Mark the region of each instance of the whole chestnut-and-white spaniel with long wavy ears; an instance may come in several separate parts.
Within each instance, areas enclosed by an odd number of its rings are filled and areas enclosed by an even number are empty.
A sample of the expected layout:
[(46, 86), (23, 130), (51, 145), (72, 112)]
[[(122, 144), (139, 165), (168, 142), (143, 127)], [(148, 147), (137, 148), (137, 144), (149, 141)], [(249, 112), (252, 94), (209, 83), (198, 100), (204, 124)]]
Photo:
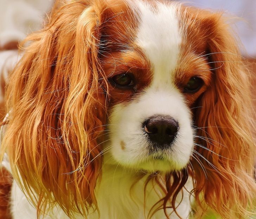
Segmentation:
[(59, 0), (19, 59), (1, 140), (13, 219), (255, 215), (250, 77), (222, 13)]

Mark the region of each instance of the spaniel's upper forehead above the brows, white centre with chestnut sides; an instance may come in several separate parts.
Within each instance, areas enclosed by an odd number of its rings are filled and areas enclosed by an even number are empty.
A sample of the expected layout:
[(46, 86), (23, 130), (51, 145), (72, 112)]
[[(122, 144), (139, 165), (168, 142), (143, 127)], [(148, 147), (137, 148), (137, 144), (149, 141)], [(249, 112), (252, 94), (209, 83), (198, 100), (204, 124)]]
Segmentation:
[(109, 1), (101, 21), (100, 52), (142, 50), (154, 67), (167, 70), (187, 52), (204, 52), (212, 26), (206, 11), (172, 1)]

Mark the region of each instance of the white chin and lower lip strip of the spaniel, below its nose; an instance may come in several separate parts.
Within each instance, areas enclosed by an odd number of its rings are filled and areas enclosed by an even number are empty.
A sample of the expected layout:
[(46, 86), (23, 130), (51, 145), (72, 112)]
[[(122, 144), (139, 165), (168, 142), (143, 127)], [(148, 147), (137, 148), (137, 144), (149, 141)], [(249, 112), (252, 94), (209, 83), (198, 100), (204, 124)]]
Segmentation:
[[(114, 147), (114, 146), (115, 147)], [(184, 169), (191, 158), (191, 153), (181, 153), (177, 147), (172, 149), (144, 150), (143, 153), (131, 150), (120, 150), (119, 145), (111, 144), (112, 150), (104, 153), (104, 163), (118, 166), (134, 172), (173, 172)], [(105, 147), (108, 148), (108, 145)]]

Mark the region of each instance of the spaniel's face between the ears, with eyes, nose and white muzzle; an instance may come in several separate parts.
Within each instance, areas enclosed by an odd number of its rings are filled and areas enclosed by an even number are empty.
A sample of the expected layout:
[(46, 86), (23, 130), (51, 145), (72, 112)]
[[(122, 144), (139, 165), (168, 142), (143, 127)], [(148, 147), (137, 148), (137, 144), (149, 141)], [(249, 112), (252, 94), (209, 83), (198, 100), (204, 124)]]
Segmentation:
[[(204, 39), (193, 41), (188, 34), (199, 38), (205, 33), (187, 27), (184, 10), (175, 3), (153, 7), (140, 2), (133, 9), (132, 42), (123, 42), (126, 49), (113, 44), (114, 56), (102, 58), (111, 97), (105, 148), (128, 167), (180, 170), (195, 146), (191, 108), (212, 72)], [(122, 19), (115, 18), (121, 25)]]

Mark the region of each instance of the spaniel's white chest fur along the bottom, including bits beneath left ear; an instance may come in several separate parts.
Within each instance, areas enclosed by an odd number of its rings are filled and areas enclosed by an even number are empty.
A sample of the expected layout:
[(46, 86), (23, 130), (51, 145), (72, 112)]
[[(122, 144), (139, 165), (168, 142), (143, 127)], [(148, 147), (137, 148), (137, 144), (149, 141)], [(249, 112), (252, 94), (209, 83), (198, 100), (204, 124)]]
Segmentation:
[[(133, 174), (127, 173), (120, 169), (104, 169), (102, 180), (96, 188), (96, 196), (98, 201), (98, 212), (94, 211), (88, 215), (88, 219), (146, 219), (154, 213), (153, 206), (160, 200), (161, 192), (158, 186), (149, 182), (145, 187), (147, 177), (135, 177)], [(187, 186), (190, 186), (189, 183)], [(187, 188), (189, 189), (189, 188)], [(181, 199), (181, 193), (177, 198)], [(152, 208), (153, 207), (153, 208)], [(178, 219), (177, 215), (172, 213), (172, 209), (168, 209), (171, 219)], [(188, 193), (184, 191), (184, 197), (179, 207), (178, 213), (182, 218), (187, 218), (190, 214), (191, 207), (188, 200)], [(14, 182), (12, 186), (12, 214), (13, 219), (35, 219), (36, 209), (32, 207), (23, 192)], [(100, 217), (99, 217), (100, 216)], [(55, 207), (50, 215), (45, 219), (69, 219), (60, 208)], [(76, 219), (83, 219), (81, 215), (77, 215)], [(156, 211), (152, 219), (165, 219), (164, 211)]]

